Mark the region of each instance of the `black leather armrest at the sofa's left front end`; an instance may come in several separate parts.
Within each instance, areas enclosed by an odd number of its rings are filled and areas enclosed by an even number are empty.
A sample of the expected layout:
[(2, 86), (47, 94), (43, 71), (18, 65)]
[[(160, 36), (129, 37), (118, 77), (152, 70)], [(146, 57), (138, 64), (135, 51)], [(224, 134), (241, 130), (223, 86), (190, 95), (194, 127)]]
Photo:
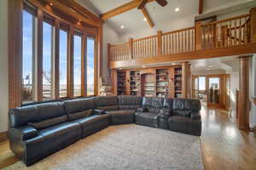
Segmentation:
[(38, 130), (32, 126), (23, 126), (23, 127), (11, 127), (9, 129), (9, 137), (14, 139), (26, 140), (32, 139), (38, 136)]

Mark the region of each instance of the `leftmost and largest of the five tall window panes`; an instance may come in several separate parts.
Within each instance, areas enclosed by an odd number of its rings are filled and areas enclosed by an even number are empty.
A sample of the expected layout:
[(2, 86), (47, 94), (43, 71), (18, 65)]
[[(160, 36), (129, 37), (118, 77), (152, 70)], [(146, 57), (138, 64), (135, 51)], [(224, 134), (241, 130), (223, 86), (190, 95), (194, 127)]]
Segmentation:
[(22, 102), (34, 100), (33, 39), (34, 16), (23, 10), (23, 51), (22, 51)]

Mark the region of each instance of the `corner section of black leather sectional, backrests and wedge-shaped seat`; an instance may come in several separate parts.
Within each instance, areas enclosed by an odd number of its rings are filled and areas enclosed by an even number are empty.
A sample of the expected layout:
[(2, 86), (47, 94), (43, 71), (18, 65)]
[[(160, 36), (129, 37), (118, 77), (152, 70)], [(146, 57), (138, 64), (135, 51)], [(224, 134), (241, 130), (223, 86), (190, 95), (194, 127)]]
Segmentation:
[(134, 114), (140, 107), (140, 96), (98, 96), (96, 108), (110, 116), (110, 124), (134, 123)]

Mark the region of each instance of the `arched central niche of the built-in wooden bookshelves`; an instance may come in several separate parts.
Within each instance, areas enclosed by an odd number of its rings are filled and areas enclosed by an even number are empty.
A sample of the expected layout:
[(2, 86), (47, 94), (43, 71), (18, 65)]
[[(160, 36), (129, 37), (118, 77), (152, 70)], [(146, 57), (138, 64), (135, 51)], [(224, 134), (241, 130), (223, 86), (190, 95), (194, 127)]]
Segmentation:
[(146, 97), (155, 95), (154, 74), (148, 73), (142, 75), (142, 95)]

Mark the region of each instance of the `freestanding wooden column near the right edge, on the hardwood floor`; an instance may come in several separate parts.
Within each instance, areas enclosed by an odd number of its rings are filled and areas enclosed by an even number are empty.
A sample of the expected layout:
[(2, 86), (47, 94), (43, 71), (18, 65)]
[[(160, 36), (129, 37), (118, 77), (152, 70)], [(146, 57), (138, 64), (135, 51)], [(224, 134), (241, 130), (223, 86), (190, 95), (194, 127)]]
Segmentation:
[(249, 56), (239, 57), (240, 79), (239, 79), (239, 105), (238, 105), (238, 127), (249, 129)]

